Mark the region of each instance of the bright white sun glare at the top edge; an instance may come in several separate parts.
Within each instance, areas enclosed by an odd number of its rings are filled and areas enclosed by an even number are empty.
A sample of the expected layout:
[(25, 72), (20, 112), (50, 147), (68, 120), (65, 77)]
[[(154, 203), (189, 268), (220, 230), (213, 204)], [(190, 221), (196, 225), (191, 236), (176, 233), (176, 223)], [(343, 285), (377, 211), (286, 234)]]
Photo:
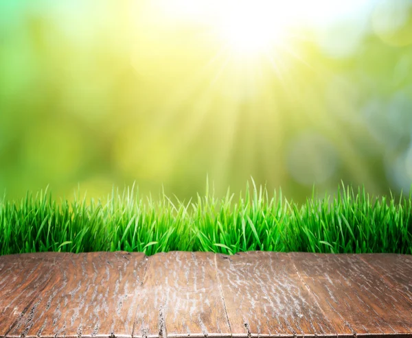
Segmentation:
[(209, 25), (222, 47), (237, 56), (256, 56), (280, 43), (297, 12), (279, 0), (158, 1), (179, 21)]

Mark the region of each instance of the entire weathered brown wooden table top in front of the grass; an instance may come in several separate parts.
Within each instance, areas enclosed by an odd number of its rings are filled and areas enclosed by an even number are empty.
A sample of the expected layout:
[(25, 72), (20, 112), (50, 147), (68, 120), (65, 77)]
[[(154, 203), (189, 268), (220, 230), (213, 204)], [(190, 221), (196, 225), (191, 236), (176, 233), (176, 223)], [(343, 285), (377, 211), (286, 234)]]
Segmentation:
[(0, 337), (412, 337), (412, 256), (0, 256)]

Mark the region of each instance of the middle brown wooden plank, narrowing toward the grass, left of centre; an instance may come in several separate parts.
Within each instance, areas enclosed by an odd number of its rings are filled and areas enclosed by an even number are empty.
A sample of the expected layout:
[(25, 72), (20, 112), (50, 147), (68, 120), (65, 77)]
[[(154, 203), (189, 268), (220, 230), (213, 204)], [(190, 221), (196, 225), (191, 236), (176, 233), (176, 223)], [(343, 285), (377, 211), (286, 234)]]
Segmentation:
[(210, 252), (151, 256), (134, 337), (229, 337), (217, 285), (214, 254)]

